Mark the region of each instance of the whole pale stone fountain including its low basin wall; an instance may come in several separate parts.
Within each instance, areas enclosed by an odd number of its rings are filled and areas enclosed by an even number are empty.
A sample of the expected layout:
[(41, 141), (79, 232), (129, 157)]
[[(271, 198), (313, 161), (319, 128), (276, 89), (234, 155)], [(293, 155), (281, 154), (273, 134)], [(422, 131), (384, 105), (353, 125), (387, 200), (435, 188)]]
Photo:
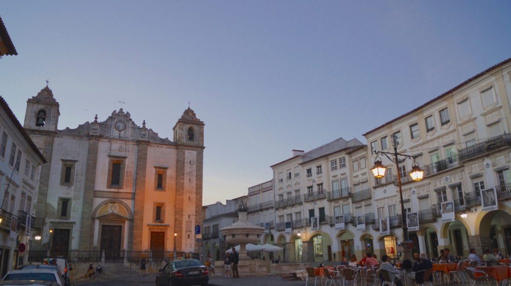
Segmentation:
[[(248, 243), (257, 243), (263, 234), (265, 228), (254, 225), (247, 221), (247, 207), (242, 203), (238, 207), (238, 221), (222, 227), (223, 239), (230, 244), (240, 245), (238, 251), (240, 263), (238, 264), (238, 272), (240, 276), (266, 276), (270, 269), (269, 260), (251, 259), (247, 255), (246, 245)], [(216, 275), (223, 273), (223, 261), (215, 263)]]

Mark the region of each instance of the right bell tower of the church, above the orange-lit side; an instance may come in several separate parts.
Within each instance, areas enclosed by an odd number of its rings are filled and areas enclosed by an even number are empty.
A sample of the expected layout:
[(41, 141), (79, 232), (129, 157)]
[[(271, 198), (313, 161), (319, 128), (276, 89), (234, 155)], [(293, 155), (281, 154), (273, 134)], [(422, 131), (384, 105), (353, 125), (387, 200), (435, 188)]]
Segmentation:
[(204, 122), (200, 121), (195, 112), (188, 108), (183, 112), (172, 128), (174, 142), (179, 144), (204, 146)]

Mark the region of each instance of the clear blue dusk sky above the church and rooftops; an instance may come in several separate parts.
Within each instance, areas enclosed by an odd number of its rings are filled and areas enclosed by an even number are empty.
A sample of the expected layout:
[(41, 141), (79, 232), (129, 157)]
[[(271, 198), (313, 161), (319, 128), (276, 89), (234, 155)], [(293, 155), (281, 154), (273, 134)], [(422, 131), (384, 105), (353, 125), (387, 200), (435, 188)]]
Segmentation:
[(203, 204), (269, 167), (357, 138), (511, 57), (511, 1), (0, 1), (18, 52), (0, 95), (18, 120), (49, 79), (59, 129), (119, 101), (172, 139), (205, 123)]

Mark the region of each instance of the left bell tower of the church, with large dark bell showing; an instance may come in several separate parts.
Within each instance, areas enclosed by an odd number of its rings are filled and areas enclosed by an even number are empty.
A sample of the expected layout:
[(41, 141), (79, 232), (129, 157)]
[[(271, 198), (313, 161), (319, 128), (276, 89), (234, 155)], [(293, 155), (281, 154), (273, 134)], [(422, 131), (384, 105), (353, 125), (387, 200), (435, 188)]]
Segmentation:
[(47, 85), (36, 96), (27, 100), (23, 127), (34, 131), (56, 132), (59, 116), (59, 103)]

